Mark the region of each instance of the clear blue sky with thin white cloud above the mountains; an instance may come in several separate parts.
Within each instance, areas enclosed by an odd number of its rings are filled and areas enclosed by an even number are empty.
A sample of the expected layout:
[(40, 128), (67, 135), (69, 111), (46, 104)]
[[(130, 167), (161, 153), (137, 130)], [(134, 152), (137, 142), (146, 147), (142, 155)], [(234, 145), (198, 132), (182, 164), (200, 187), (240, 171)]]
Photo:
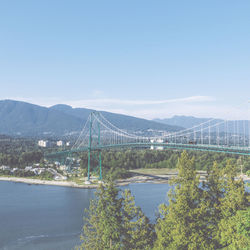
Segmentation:
[(0, 99), (246, 118), (250, 1), (0, 1)]

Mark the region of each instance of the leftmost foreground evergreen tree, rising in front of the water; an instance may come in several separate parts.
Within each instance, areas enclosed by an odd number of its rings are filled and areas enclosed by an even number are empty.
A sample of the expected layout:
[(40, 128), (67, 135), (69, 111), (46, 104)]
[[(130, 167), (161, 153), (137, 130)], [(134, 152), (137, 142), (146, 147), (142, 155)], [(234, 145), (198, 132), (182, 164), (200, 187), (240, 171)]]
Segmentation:
[(120, 249), (122, 236), (122, 198), (112, 182), (100, 185), (90, 202), (79, 249)]

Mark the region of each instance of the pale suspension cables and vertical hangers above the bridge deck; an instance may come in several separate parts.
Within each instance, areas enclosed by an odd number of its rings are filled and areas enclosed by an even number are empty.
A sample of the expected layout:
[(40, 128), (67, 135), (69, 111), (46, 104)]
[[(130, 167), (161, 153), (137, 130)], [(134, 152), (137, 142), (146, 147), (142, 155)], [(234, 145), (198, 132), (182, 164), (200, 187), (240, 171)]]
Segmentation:
[[(126, 143), (175, 143), (175, 144), (199, 144), (199, 145), (217, 145), (249, 147), (249, 121), (228, 121), (209, 119), (201, 124), (191, 128), (186, 128), (176, 132), (168, 132), (161, 135), (141, 136), (129, 133), (112, 124), (104, 117), (102, 113), (94, 112), (92, 114), (91, 126), (96, 130), (97, 126), (101, 128), (101, 140), (103, 145), (122, 145)], [(240, 126), (241, 124), (241, 126)], [(230, 125), (230, 126), (229, 126)], [(248, 127), (248, 129), (247, 129)], [(231, 130), (233, 128), (233, 131)], [(88, 117), (84, 128), (75, 141), (72, 149), (87, 147), (89, 141), (90, 117)], [(242, 135), (240, 135), (242, 133)], [(248, 136), (247, 136), (248, 133)], [(246, 140), (248, 138), (248, 140)]]

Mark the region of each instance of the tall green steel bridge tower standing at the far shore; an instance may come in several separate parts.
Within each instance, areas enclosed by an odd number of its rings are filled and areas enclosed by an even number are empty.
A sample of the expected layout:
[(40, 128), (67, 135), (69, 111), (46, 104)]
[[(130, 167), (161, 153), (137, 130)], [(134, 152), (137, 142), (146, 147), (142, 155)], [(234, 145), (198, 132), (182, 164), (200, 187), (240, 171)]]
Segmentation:
[[(99, 168), (99, 179), (102, 180), (102, 155), (101, 155), (101, 131), (99, 122), (99, 112), (94, 111), (90, 114), (89, 123), (89, 143), (88, 143), (88, 181), (90, 181), (90, 169), (97, 162), (95, 169)], [(99, 149), (94, 149), (98, 146)]]

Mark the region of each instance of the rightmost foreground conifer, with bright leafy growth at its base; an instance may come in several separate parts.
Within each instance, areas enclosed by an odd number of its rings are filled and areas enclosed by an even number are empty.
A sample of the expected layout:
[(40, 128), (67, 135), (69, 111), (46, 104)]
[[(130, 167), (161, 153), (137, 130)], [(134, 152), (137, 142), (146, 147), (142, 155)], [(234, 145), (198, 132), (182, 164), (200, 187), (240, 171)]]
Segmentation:
[[(227, 162), (223, 170), (223, 191), (220, 212), (221, 220), (218, 223), (217, 239), (222, 247), (228, 249), (247, 249), (250, 247), (249, 225), (249, 194), (245, 192), (242, 179), (236, 179), (236, 166)], [(247, 226), (248, 224), (248, 226)], [(246, 233), (241, 232), (246, 228)]]

